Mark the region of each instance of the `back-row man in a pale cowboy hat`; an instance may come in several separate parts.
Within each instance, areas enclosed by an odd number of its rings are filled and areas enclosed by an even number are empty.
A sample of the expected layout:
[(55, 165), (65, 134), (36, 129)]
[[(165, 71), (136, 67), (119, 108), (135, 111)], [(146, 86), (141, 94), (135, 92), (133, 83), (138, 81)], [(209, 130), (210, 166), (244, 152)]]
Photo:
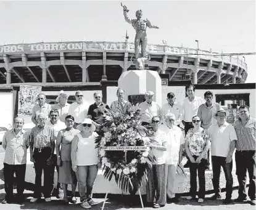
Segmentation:
[(59, 95), (56, 99), (56, 104), (52, 106), (52, 110), (58, 110), (59, 111), (59, 119), (63, 123), (65, 123), (65, 117), (68, 115), (68, 109), (70, 107), (70, 104), (68, 103), (68, 96), (64, 91), (60, 91)]

